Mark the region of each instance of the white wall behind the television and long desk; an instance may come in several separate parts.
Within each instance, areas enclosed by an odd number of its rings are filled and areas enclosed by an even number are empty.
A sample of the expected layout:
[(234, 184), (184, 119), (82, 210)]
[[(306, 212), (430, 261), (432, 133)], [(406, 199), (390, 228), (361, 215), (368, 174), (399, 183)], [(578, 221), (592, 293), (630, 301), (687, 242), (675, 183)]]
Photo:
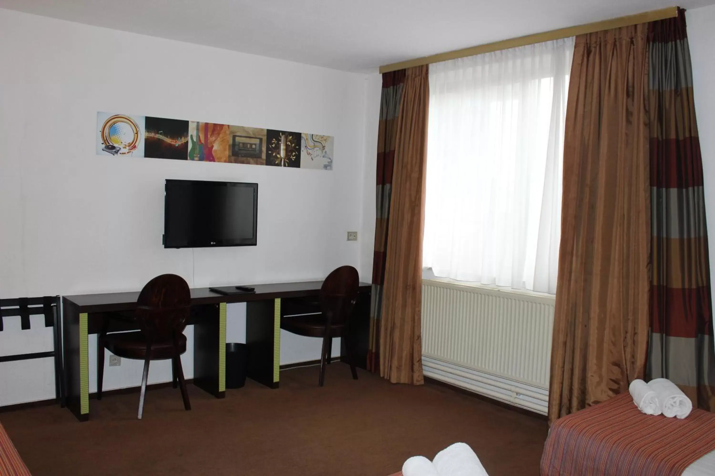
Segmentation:
[[(139, 290), (161, 273), (192, 287), (312, 280), (344, 264), (369, 281), (375, 77), (0, 9), (0, 297)], [(325, 133), (334, 170), (97, 156), (97, 111)], [(162, 248), (165, 178), (259, 183), (258, 245)], [(228, 340), (242, 318), (231, 305)], [(51, 348), (41, 316), (5, 326), (0, 354)], [(319, 358), (318, 340), (281, 338), (281, 363)], [(190, 352), (183, 363), (191, 377)], [(106, 389), (140, 380), (138, 361), (105, 371)], [(149, 380), (170, 380), (168, 363)], [(51, 359), (1, 364), (0, 382), (0, 405), (53, 397)]]

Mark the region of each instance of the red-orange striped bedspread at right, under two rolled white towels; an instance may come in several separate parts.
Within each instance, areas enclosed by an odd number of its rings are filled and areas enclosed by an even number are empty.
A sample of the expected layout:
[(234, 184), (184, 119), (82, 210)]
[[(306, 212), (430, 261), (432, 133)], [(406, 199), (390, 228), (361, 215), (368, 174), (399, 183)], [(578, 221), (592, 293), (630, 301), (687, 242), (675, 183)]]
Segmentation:
[(541, 455), (542, 476), (675, 476), (715, 450), (715, 414), (644, 415), (629, 393), (559, 418)]

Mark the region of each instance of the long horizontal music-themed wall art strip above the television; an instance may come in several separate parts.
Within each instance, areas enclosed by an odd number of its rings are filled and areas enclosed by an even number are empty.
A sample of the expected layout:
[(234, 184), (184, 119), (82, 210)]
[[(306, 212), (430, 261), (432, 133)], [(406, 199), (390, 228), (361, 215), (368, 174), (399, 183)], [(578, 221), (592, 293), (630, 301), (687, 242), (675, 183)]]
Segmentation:
[(97, 154), (332, 170), (332, 136), (97, 113)]

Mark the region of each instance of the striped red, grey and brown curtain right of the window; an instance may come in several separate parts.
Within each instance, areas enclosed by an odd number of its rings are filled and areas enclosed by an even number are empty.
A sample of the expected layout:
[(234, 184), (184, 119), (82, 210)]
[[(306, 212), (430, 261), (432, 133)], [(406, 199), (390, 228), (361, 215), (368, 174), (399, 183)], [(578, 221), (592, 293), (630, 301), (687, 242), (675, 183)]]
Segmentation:
[(703, 165), (684, 11), (649, 24), (650, 378), (672, 380), (715, 411)]

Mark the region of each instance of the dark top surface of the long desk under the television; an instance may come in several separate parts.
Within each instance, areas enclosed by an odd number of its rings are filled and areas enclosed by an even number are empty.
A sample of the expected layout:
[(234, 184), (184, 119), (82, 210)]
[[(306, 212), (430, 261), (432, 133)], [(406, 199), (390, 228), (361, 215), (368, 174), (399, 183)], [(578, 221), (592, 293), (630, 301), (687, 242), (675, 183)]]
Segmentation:
[[(320, 291), (322, 281), (299, 281), (296, 283), (273, 283), (252, 285), (255, 293), (222, 295), (209, 288), (192, 288), (192, 305), (215, 303), (245, 303), (252, 300), (275, 298), (300, 298), (315, 295)], [(369, 283), (360, 283), (360, 291), (369, 291)], [(139, 291), (129, 293), (79, 294), (64, 296), (65, 302), (73, 303), (83, 313), (101, 313), (114, 310), (131, 310), (137, 306)]]

